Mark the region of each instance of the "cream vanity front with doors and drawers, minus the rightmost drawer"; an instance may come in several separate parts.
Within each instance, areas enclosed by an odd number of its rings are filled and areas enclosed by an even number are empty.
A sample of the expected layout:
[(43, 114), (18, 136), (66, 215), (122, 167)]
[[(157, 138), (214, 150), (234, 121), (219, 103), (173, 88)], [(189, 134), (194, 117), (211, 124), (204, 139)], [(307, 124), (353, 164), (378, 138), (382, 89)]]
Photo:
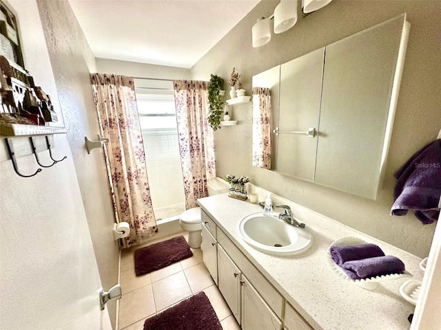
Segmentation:
[(281, 330), (283, 296), (203, 210), (201, 215), (203, 261), (238, 324), (243, 330)]

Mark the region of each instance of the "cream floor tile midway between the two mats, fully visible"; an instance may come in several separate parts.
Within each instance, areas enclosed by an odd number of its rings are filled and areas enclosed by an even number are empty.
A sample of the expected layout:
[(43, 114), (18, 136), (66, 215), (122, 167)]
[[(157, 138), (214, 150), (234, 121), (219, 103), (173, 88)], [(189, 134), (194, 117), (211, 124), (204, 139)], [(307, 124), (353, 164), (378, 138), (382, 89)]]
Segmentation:
[(156, 311), (192, 295), (183, 272), (178, 272), (152, 283)]

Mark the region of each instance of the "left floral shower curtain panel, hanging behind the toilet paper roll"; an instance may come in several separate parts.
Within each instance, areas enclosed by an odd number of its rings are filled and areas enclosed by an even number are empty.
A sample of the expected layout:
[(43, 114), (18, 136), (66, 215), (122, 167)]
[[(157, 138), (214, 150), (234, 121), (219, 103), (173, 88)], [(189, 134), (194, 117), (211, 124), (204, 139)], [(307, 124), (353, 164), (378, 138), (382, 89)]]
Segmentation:
[(145, 155), (133, 78), (91, 74), (104, 148), (110, 190), (117, 221), (130, 225), (122, 248), (142, 243), (157, 232), (145, 168)]

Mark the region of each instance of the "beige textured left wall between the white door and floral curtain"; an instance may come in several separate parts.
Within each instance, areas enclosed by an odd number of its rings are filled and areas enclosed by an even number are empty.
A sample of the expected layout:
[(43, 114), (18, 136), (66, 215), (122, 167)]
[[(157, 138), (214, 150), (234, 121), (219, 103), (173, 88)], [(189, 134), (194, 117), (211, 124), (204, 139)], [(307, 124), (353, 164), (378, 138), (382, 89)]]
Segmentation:
[[(96, 72), (95, 59), (67, 0), (37, 3), (101, 282), (110, 289), (118, 283), (119, 248), (112, 234), (114, 213), (105, 159), (101, 149), (88, 155), (84, 144), (85, 136), (96, 140), (99, 134), (89, 76)], [(107, 308), (114, 325), (116, 300)]]

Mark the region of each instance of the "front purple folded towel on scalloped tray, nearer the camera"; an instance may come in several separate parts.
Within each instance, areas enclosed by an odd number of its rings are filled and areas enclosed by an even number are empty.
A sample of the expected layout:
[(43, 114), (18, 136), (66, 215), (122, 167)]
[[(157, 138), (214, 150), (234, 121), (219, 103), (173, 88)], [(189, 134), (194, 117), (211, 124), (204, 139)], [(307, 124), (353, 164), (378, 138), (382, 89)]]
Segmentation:
[(379, 275), (404, 273), (404, 263), (396, 256), (376, 256), (373, 258), (347, 261), (343, 263), (341, 267), (347, 276), (353, 280)]

